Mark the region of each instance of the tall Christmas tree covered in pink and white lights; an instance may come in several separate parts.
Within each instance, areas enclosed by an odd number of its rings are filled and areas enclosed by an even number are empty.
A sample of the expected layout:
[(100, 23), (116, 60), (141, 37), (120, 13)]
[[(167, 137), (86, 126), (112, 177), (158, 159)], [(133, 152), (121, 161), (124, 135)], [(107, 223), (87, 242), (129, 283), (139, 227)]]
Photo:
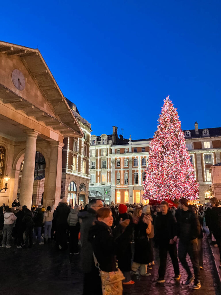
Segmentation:
[(198, 199), (194, 167), (189, 159), (181, 122), (169, 96), (150, 142), (143, 199)]

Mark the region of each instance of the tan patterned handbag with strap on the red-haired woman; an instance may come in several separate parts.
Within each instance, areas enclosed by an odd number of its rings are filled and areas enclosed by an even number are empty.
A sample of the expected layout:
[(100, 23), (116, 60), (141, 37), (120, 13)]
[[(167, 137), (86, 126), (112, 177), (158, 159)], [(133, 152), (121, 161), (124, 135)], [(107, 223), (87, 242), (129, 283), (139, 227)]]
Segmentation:
[(97, 258), (94, 255), (95, 266), (99, 269), (101, 284), (102, 284), (102, 294), (103, 295), (122, 295), (123, 285), (122, 281), (125, 279), (121, 270), (117, 267), (117, 271), (102, 271), (98, 263)]

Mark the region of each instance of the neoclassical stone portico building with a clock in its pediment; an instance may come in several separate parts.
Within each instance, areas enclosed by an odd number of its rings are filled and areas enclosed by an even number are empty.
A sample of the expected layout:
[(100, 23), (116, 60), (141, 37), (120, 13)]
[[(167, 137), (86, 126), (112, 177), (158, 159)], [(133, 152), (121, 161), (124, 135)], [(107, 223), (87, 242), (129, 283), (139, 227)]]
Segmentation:
[[(83, 137), (80, 121), (39, 50), (0, 42), (1, 188), (10, 178), (0, 204), (11, 205), (19, 194), (20, 203), (31, 208), (34, 179), (42, 177), (35, 177), (36, 165), (44, 167), (44, 206), (52, 200), (58, 204), (64, 139)], [(36, 152), (42, 158), (38, 164)]]

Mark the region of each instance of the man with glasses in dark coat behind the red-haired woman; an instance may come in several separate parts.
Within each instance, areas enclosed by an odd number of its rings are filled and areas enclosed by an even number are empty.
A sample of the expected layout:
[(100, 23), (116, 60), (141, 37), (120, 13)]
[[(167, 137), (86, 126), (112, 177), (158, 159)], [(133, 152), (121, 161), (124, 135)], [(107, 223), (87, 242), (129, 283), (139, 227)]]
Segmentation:
[(101, 199), (92, 199), (88, 204), (88, 210), (80, 212), (78, 217), (80, 219), (80, 267), (84, 273), (83, 280), (83, 295), (98, 294), (98, 289), (101, 288), (98, 269), (95, 268), (93, 260), (93, 248), (88, 241), (88, 232), (96, 219), (96, 212), (103, 208)]

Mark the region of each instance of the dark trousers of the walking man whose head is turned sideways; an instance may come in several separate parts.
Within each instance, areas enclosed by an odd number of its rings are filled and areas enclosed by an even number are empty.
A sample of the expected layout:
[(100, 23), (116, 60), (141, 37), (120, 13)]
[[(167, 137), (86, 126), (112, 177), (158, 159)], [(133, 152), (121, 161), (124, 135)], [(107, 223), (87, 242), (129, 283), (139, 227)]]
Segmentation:
[(181, 262), (183, 268), (187, 271), (188, 276), (192, 276), (192, 273), (189, 269), (189, 266), (186, 260), (187, 253), (189, 254), (190, 260), (193, 265), (195, 279), (199, 280), (200, 268), (199, 268), (197, 239), (195, 240), (195, 242), (187, 242), (187, 243), (183, 243), (179, 241), (179, 246), (178, 246), (179, 261)]

